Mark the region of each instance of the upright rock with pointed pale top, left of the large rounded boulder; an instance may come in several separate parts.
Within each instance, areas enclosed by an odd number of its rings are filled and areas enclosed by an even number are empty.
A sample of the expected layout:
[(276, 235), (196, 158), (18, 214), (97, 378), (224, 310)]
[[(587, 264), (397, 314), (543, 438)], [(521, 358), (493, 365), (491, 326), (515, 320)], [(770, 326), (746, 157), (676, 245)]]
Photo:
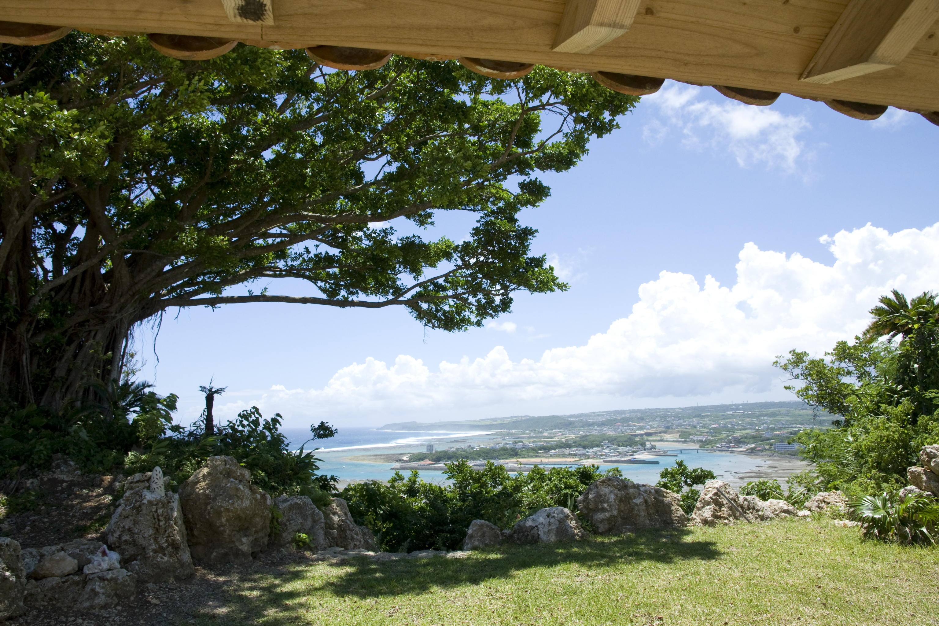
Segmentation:
[(106, 535), (123, 557), (125, 569), (154, 583), (192, 576), (195, 570), (179, 496), (166, 491), (160, 467), (134, 474), (124, 484), (124, 497), (111, 516)]

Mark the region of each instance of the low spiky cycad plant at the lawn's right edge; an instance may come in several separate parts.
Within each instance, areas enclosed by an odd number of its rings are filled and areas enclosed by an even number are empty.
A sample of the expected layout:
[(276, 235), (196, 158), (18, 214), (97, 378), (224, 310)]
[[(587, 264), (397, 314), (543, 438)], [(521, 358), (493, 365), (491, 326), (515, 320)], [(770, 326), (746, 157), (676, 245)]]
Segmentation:
[(866, 538), (906, 544), (935, 543), (939, 524), (939, 500), (926, 494), (900, 498), (864, 496), (851, 505), (854, 519), (861, 523)]

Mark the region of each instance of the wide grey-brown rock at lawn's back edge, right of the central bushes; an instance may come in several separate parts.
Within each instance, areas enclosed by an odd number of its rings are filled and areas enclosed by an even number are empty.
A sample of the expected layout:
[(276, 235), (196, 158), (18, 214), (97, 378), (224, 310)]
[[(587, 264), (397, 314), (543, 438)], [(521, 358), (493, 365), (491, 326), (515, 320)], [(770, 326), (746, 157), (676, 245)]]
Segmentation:
[(639, 528), (684, 527), (688, 524), (681, 500), (667, 489), (606, 476), (594, 481), (577, 498), (577, 510), (601, 535)]

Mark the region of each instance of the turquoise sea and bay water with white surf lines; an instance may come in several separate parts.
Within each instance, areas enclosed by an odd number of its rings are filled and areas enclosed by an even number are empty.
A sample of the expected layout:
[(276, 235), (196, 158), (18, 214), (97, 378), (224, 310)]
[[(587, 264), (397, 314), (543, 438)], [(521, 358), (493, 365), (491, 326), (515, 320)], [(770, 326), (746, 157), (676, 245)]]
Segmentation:
[[(299, 448), (310, 432), (302, 429), (284, 429), (291, 446)], [(340, 428), (339, 434), (331, 439), (315, 442), (321, 446), (316, 450), (316, 457), (322, 459), (319, 464), (320, 473), (338, 476), (341, 481), (387, 481), (394, 473), (393, 463), (368, 463), (351, 460), (350, 457), (364, 454), (381, 453), (407, 453), (424, 450), (428, 443), (439, 445), (473, 442), (485, 444), (491, 437), (479, 431), (448, 432), (448, 431), (381, 431), (369, 428)], [(660, 447), (664, 447), (661, 446)], [(308, 444), (306, 450), (310, 450)], [(666, 467), (675, 465), (678, 460), (684, 460), (689, 467), (704, 467), (710, 469), (719, 478), (731, 484), (742, 481), (736, 480), (735, 475), (759, 469), (761, 466), (772, 464), (771, 457), (733, 454), (731, 452), (712, 452), (708, 450), (686, 449), (677, 456), (665, 456), (657, 459), (658, 465), (619, 465), (623, 477), (631, 481), (654, 484), (658, 481), (658, 474)], [(557, 464), (562, 465), (562, 464)], [(566, 464), (563, 464), (566, 465)], [(598, 464), (600, 469), (613, 467), (607, 464)], [(551, 466), (551, 464), (546, 464)], [(405, 472), (407, 475), (408, 472)], [(424, 481), (446, 481), (443, 472), (422, 471)]]

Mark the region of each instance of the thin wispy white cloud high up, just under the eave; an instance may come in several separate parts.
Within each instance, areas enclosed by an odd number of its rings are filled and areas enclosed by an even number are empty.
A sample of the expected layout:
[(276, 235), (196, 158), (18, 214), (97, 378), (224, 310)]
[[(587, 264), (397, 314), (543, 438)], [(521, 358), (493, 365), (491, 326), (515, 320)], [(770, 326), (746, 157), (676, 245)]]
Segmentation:
[[(717, 101), (707, 99), (714, 94)], [(772, 107), (751, 106), (717, 94), (710, 87), (667, 82), (643, 103), (661, 113), (643, 128), (643, 137), (657, 145), (672, 131), (689, 148), (727, 150), (741, 167), (762, 163), (795, 172), (812, 153), (799, 134), (810, 125), (802, 115), (786, 115)]]

